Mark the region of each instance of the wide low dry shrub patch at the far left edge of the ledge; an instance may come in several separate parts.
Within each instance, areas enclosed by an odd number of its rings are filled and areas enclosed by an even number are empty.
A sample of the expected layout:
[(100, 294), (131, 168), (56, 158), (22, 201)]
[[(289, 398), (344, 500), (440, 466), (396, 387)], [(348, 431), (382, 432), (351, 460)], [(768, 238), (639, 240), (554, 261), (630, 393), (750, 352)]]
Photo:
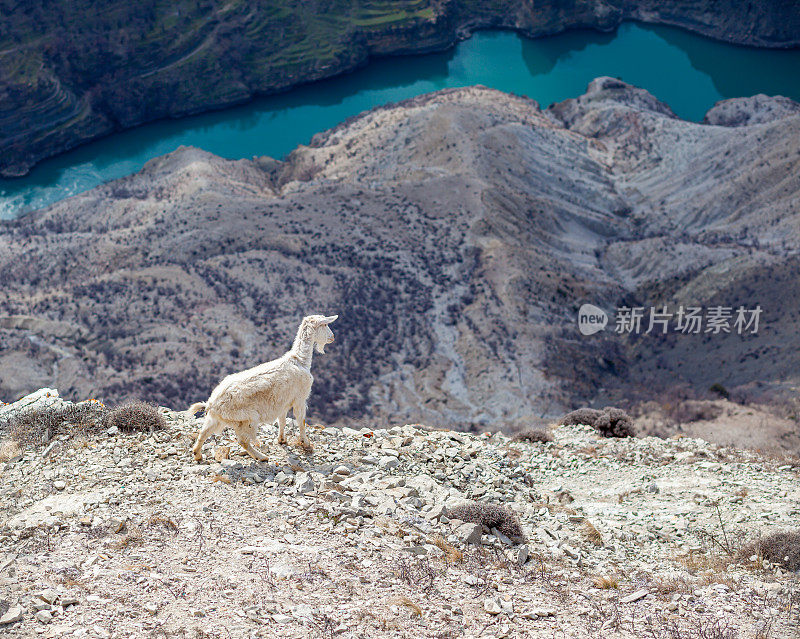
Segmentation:
[(7, 419), (5, 430), (20, 446), (44, 446), (60, 435), (101, 431), (104, 413), (100, 402), (23, 410)]

